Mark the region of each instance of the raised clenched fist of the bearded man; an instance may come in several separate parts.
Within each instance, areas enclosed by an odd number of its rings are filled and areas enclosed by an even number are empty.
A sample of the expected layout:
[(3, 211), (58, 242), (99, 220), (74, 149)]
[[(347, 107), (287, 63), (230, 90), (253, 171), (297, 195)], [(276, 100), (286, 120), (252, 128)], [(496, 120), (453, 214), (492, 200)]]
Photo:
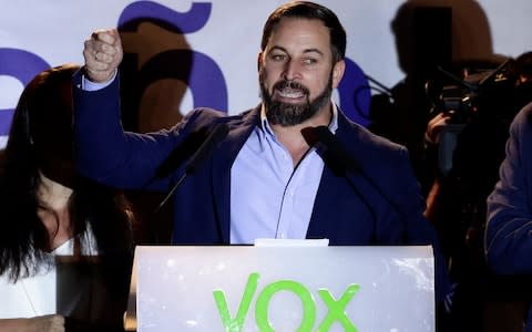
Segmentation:
[(94, 31), (84, 45), (88, 79), (95, 83), (111, 80), (124, 54), (119, 31), (116, 29)]

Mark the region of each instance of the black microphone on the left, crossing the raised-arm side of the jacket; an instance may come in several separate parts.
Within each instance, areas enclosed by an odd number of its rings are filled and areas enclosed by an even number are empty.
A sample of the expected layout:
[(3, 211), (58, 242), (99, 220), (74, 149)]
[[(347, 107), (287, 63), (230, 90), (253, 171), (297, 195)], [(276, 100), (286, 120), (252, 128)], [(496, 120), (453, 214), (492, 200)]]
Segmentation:
[(227, 136), (229, 133), (229, 128), (225, 123), (217, 124), (213, 132), (205, 138), (202, 145), (196, 149), (194, 155), (188, 159), (185, 166), (185, 172), (180, 177), (180, 179), (175, 183), (168, 194), (164, 197), (161, 201), (156, 211), (161, 210), (161, 208), (166, 204), (166, 201), (172, 197), (174, 191), (181, 186), (181, 184), (185, 180), (185, 178), (197, 170), (197, 168), (204, 163), (208, 156), (212, 155), (216, 146)]

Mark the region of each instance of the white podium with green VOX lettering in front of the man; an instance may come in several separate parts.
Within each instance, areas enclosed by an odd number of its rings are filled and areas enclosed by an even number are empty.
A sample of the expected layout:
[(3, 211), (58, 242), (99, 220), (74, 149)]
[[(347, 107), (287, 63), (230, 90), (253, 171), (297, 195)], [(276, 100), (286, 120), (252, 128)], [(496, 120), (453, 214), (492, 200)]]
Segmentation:
[(432, 248), (143, 247), (126, 328), (434, 331)]

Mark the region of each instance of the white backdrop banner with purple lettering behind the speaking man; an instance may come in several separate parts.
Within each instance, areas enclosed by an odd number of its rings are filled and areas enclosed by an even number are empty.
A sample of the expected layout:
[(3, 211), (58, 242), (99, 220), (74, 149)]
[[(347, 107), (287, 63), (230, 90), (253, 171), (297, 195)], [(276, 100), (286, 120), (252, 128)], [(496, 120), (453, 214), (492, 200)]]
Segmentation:
[[(263, 24), (284, 2), (3, 1), (0, 137), (9, 132), (23, 86), (50, 66), (82, 63), (83, 41), (92, 31), (111, 27), (120, 30), (125, 51), (121, 77), (126, 128), (168, 127), (195, 106), (229, 114), (246, 111), (259, 102), (256, 61)], [(402, 9), (411, 3), (452, 8), (454, 60), (516, 56), (532, 50), (529, 0), (514, 0), (512, 6), (500, 0), (316, 2), (332, 9), (347, 30), (347, 72), (334, 97), (362, 125), (370, 122), (372, 92), (386, 92), (406, 75), (397, 27)]]

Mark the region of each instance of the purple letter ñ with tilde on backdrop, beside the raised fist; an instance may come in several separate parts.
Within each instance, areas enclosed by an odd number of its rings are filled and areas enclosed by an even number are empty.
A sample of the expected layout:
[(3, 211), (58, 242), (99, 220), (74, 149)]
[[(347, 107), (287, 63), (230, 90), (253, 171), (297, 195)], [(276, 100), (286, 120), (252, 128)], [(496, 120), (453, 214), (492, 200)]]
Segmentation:
[[(202, 29), (211, 17), (212, 3), (193, 2), (188, 12), (180, 13), (151, 1), (127, 6), (119, 20), (120, 31), (136, 31), (141, 22), (152, 22), (180, 34)], [(186, 43), (186, 41), (185, 41)], [(125, 61), (136, 62), (135, 54), (125, 54)], [(130, 64), (133, 69), (134, 64)], [(219, 66), (208, 55), (190, 49), (171, 50), (154, 55), (136, 76), (136, 91), (142, 95), (152, 83), (162, 79), (176, 79), (188, 85), (193, 92), (194, 107), (209, 106), (227, 112), (227, 87)], [(216, 92), (216, 93), (213, 93)], [(136, 105), (134, 105), (136, 104)], [(140, 100), (132, 102), (139, 108)]]

